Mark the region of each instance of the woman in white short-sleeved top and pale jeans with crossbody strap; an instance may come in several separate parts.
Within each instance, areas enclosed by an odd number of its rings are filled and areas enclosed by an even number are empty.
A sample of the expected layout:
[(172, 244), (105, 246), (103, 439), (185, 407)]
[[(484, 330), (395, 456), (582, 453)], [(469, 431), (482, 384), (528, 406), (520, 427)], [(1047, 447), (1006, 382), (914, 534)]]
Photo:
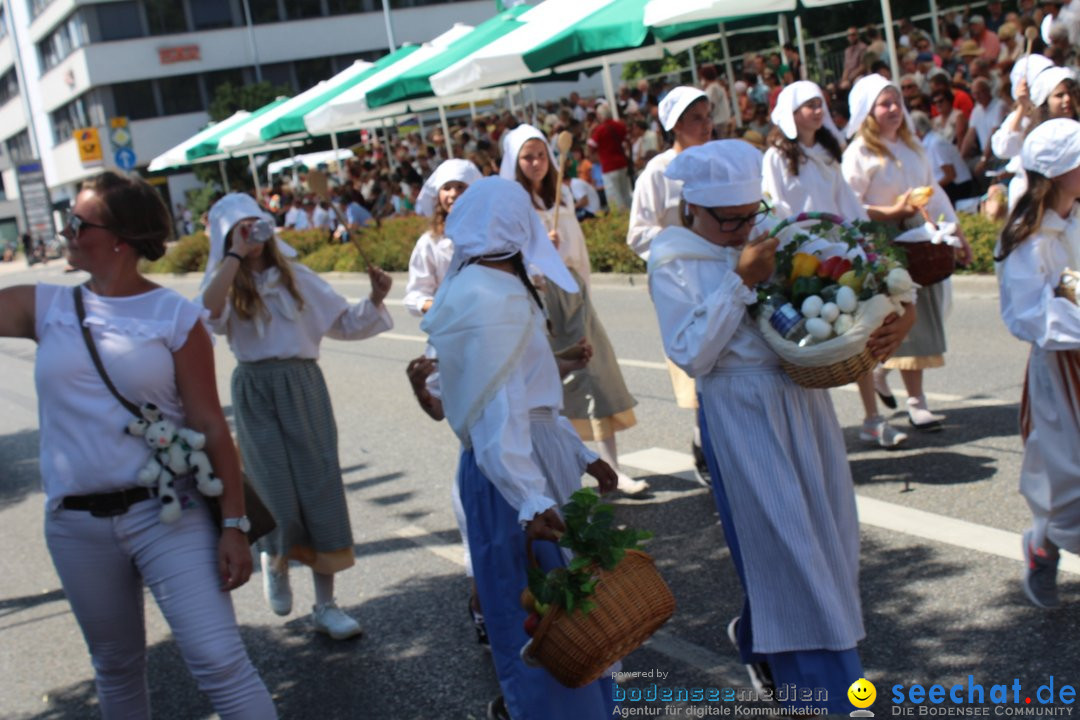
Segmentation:
[[(180, 655), (221, 718), (276, 712), (237, 628), (229, 592), (247, 582), (244, 493), (221, 411), (202, 309), (138, 272), (165, 253), (172, 219), (143, 180), (104, 173), (76, 196), (64, 229), (68, 259), (90, 273), (78, 288), (0, 290), (0, 336), (38, 343), (45, 540), (94, 665), (103, 717), (149, 718), (143, 588), (161, 609)], [(205, 435), (224, 484), (225, 529), (193, 483), (176, 480), (179, 519), (136, 479), (152, 451), (124, 432), (132, 421), (92, 359), (84, 332), (118, 392)]]

